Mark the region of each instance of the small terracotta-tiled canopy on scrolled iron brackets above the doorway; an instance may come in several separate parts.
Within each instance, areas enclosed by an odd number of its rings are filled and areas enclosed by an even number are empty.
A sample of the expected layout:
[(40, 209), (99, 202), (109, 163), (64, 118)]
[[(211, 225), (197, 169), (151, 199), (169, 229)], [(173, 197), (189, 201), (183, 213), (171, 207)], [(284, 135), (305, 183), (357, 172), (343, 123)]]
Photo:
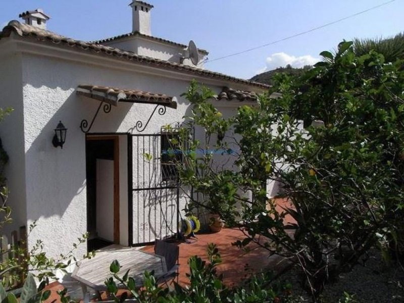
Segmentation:
[(113, 106), (118, 106), (119, 102), (129, 102), (157, 104), (177, 109), (176, 97), (160, 93), (89, 84), (79, 85), (76, 93), (109, 103)]

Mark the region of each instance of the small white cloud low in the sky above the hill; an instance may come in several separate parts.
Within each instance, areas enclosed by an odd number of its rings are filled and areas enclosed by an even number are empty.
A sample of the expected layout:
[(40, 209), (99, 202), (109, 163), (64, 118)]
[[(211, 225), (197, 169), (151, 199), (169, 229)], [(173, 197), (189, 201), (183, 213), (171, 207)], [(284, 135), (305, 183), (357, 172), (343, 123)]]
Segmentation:
[(258, 73), (271, 71), (278, 67), (285, 67), (288, 64), (294, 68), (302, 68), (305, 65), (314, 65), (319, 61), (319, 58), (310, 55), (295, 57), (286, 53), (275, 53), (267, 58), (266, 67), (258, 71)]

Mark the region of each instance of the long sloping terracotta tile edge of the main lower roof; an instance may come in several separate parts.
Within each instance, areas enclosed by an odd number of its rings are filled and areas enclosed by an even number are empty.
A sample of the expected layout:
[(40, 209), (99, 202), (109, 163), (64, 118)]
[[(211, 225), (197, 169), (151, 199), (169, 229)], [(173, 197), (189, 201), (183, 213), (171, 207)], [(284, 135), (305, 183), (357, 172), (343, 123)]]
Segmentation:
[(16, 34), (18, 34), (23, 38), (35, 38), (40, 42), (52, 42), (58, 44), (58, 46), (60, 47), (64, 46), (77, 47), (84, 51), (93, 52), (99, 55), (113, 56), (115, 58), (120, 58), (123, 60), (128, 60), (136, 63), (147, 64), (159, 69), (176, 70), (181, 73), (191, 74), (199, 77), (222, 79), (235, 83), (259, 87), (261, 89), (268, 89), (270, 87), (269, 85), (266, 84), (239, 79), (236, 77), (224, 75), (217, 72), (190, 67), (178, 63), (168, 62), (161, 59), (139, 56), (133, 52), (123, 51), (122, 49), (114, 48), (111, 46), (106, 46), (93, 42), (74, 40), (48, 30), (20, 23), (19, 21), (16, 20), (11, 21), (5, 28), (3, 28), (3, 31), (0, 32), (0, 39), (10, 36), (12, 32), (15, 32)]

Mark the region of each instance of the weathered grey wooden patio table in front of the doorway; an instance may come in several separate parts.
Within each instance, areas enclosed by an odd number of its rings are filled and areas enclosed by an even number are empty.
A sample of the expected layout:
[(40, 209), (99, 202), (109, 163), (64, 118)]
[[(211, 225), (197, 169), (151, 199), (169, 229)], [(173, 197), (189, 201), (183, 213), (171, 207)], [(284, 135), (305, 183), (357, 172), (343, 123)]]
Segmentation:
[(110, 265), (114, 260), (118, 260), (121, 266), (118, 275), (123, 277), (129, 270), (128, 276), (135, 279), (137, 286), (142, 284), (145, 271), (154, 270), (157, 277), (167, 272), (164, 257), (135, 248), (118, 248), (96, 252), (94, 258), (78, 262), (72, 273), (72, 278), (81, 284), (84, 302), (89, 301), (87, 286), (96, 291), (107, 290), (104, 282), (112, 276)]

